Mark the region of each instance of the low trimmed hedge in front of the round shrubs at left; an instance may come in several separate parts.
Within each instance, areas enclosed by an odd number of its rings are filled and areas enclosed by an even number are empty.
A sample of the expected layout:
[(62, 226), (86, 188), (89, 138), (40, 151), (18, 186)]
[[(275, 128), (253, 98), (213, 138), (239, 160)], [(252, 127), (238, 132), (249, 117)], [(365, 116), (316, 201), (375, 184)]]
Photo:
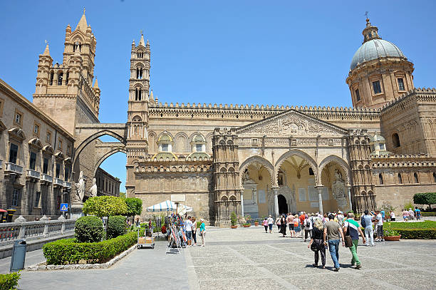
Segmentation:
[(132, 247), (137, 242), (137, 233), (129, 232), (114, 239), (96, 243), (78, 243), (76, 239), (59, 239), (43, 246), (47, 264), (78, 264), (84, 260), (87, 264), (110, 261), (113, 257)]

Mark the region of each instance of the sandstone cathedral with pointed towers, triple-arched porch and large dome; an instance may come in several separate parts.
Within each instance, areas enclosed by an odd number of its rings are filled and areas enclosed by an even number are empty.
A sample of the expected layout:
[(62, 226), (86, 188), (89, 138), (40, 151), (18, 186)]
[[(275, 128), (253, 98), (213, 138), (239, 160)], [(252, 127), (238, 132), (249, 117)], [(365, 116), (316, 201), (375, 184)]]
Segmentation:
[(141, 35), (131, 44), (127, 121), (105, 124), (96, 39), (83, 14), (74, 31), (66, 27), (61, 65), (48, 46), (40, 56), (33, 103), (69, 134), (73, 182), (125, 152), (126, 194), (142, 200), (143, 217), (172, 199), (217, 226), (232, 212), (400, 212), (415, 193), (436, 191), (436, 90), (414, 87), (413, 63), (369, 19), (362, 34), (346, 76), (353, 108), (162, 102)]

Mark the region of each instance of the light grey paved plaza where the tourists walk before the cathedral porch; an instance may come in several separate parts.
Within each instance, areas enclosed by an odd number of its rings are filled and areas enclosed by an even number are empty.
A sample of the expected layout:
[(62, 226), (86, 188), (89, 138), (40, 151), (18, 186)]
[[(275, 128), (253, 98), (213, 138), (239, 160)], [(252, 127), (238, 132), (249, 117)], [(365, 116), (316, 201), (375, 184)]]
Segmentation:
[[(313, 268), (313, 252), (302, 239), (265, 234), (263, 227), (207, 229), (206, 247), (183, 254), (135, 250), (110, 269), (23, 271), (19, 289), (435, 289), (436, 241), (401, 240), (359, 247), (363, 268), (351, 268), (351, 253), (341, 247), (341, 270)], [(360, 240), (361, 243), (361, 240)], [(41, 251), (28, 253), (26, 264), (42, 261)], [(0, 270), (9, 269), (0, 260)]]

